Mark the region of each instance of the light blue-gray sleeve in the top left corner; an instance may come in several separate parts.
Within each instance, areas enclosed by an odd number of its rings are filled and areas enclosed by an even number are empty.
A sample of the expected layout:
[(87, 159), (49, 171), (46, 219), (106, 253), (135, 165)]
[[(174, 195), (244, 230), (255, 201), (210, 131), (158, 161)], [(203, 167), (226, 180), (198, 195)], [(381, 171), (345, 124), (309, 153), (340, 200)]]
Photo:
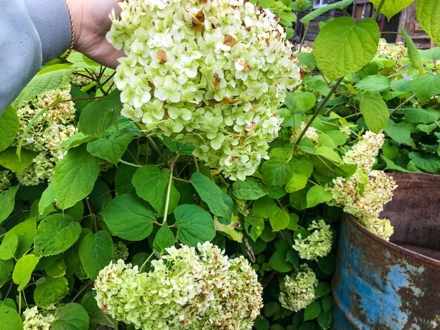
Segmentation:
[(0, 114), (39, 71), (70, 45), (63, 0), (0, 0)]

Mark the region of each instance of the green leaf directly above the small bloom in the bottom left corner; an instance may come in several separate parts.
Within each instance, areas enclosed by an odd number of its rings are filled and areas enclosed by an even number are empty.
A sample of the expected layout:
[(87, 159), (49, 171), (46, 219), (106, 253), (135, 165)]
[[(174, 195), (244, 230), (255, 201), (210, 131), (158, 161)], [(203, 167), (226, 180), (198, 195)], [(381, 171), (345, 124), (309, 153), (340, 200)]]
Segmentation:
[(69, 292), (67, 279), (60, 277), (41, 277), (34, 291), (34, 301), (39, 308), (46, 309), (58, 303)]

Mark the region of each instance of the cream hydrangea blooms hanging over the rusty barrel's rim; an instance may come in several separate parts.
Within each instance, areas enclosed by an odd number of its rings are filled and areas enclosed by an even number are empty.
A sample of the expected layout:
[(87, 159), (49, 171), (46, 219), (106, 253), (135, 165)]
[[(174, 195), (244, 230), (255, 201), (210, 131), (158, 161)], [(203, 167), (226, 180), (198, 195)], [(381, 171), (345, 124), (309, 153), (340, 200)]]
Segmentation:
[(384, 135), (367, 131), (361, 140), (343, 157), (347, 164), (357, 164), (356, 173), (350, 178), (335, 178), (332, 187), (333, 199), (329, 204), (341, 206), (355, 216), (371, 232), (389, 239), (393, 233), (388, 219), (379, 214), (392, 197), (396, 182), (383, 171), (373, 170), (375, 157), (382, 147)]

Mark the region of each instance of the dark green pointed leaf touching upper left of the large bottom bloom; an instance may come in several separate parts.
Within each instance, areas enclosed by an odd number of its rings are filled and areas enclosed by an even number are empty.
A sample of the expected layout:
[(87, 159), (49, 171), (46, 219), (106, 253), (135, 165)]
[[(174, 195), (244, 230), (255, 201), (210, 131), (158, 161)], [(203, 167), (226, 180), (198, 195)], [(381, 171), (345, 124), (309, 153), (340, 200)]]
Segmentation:
[(104, 230), (100, 230), (96, 234), (91, 232), (79, 244), (79, 260), (81, 260), (84, 272), (90, 279), (94, 279), (112, 259), (112, 237)]

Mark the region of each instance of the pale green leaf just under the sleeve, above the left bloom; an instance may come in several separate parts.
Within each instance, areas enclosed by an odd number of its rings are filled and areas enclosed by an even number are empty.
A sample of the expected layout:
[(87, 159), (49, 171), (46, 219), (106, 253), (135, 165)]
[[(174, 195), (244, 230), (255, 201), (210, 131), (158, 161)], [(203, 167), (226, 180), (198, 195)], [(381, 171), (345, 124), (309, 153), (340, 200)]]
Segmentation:
[(46, 91), (51, 91), (70, 81), (72, 69), (63, 69), (37, 74), (21, 91), (18, 98), (15, 98), (13, 107), (18, 107), (20, 103)]

